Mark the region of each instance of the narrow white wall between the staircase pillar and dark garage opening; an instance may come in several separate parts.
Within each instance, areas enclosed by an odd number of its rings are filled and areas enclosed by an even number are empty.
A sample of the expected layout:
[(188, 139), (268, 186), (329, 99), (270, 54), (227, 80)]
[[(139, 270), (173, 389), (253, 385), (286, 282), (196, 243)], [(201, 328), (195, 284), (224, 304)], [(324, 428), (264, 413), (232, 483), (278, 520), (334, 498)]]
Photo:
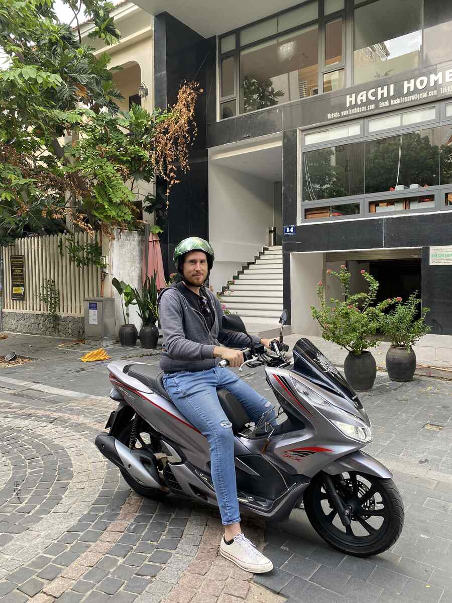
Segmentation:
[(318, 308), (317, 283), (322, 280), (323, 272), (323, 253), (290, 254), (292, 333), (321, 335), (319, 324), (312, 318), (311, 306)]

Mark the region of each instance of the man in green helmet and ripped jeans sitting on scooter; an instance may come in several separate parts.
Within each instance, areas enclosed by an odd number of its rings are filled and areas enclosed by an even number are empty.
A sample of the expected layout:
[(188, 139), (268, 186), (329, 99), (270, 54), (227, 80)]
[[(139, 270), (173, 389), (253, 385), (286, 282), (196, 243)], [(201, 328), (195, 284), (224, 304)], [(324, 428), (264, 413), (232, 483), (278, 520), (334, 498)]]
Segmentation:
[[(184, 239), (175, 248), (178, 282), (163, 289), (158, 301), (163, 329), (160, 367), (172, 402), (209, 441), (212, 481), (224, 525), (221, 554), (248, 572), (269, 572), (273, 569), (272, 562), (257, 551), (240, 529), (234, 434), (216, 388), (230, 391), (256, 423), (271, 402), (233, 371), (218, 367), (221, 359), (227, 360), (231, 367), (239, 367), (242, 352), (227, 346), (247, 347), (249, 339), (243, 333), (221, 329), (221, 303), (204, 287), (213, 260), (212, 246), (198, 237)], [(270, 339), (255, 337), (254, 343), (270, 349)]]

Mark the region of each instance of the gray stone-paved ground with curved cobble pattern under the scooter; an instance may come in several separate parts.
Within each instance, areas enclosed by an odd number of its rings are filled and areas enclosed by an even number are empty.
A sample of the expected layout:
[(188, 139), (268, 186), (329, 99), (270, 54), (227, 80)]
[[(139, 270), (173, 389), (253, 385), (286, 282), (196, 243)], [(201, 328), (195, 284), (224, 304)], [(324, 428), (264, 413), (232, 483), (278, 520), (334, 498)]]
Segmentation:
[[(343, 555), (295, 510), (283, 523), (245, 523), (275, 566), (253, 577), (218, 556), (215, 509), (142, 499), (98, 453), (93, 439), (115, 408), (97, 397), (108, 387), (99, 379), (107, 363), (81, 371), (74, 352), (60, 353), (23, 365), (27, 372), (0, 373), (2, 603), (452, 602), (449, 382), (394, 384), (378, 374), (361, 396), (374, 426), (366, 451), (394, 471), (406, 508), (390, 551), (366, 560)], [(96, 397), (24, 389), (2, 382), (6, 375)], [(245, 379), (269, 396), (262, 370)], [(427, 430), (427, 422), (443, 428)]]

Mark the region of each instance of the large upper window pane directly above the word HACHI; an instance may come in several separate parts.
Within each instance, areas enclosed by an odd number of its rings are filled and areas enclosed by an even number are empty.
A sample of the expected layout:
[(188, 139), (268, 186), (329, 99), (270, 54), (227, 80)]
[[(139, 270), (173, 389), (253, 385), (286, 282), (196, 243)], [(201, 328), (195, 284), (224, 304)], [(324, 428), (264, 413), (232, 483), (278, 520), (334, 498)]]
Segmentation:
[(419, 66), (422, 4), (422, 0), (377, 0), (355, 9), (355, 84)]

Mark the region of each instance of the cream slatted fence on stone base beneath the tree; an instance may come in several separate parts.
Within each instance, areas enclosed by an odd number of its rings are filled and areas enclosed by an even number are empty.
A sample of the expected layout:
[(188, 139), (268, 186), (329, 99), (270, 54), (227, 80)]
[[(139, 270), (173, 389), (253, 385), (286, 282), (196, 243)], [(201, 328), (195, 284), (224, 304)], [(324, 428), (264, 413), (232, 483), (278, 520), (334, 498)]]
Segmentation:
[[(63, 256), (58, 244), (62, 241)], [(31, 236), (16, 239), (14, 245), (3, 248), (4, 309), (26, 312), (46, 312), (39, 300), (46, 279), (55, 280), (60, 292), (58, 314), (80, 316), (84, 314), (83, 298), (98, 297), (101, 291), (101, 270), (89, 265), (78, 268), (67, 252), (66, 235)], [(74, 242), (93, 242), (88, 233), (75, 233)], [(61, 244), (60, 244), (61, 245)], [(25, 300), (11, 300), (11, 256), (24, 256)]]

